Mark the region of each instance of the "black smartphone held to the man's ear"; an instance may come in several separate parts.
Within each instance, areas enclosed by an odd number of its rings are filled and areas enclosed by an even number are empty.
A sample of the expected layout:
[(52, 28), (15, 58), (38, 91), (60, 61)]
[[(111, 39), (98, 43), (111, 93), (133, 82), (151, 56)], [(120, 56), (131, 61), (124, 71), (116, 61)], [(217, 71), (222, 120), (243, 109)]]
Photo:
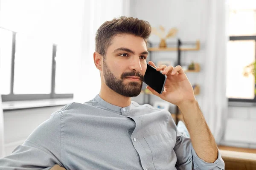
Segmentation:
[(157, 71), (153, 66), (147, 63), (147, 70), (144, 80), (149, 87), (153, 88), (157, 93), (162, 94), (167, 76)]

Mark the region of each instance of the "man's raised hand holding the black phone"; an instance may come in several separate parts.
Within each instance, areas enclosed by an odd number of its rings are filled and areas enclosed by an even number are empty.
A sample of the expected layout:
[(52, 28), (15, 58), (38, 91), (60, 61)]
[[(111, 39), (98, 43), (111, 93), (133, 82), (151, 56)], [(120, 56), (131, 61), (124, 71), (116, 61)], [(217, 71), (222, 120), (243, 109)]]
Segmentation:
[(166, 65), (156, 67), (151, 61), (148, 64), (156, 68), (157, 71), (163, 71), (162, 74), (167, 76), (162, 94), (157, 93), (151, 87), (147, 86), (147, 89), (154, 95), (177, 106), (182, 105), (183, 102), (195, 101), (192, 85), (180, 65), (176, 67), (167, 67)]

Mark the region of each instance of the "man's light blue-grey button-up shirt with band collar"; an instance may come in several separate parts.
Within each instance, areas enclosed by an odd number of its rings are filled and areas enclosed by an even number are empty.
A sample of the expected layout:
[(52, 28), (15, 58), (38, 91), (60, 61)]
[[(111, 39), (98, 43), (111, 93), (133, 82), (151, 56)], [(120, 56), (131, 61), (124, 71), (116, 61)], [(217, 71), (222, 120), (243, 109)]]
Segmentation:
[(168, 111), (132, 101), (125, 108), (99, 95), (52, 113), (10, 156), (0, 170), (224, 170), (200, 159), (190, 138), (177, 131)]

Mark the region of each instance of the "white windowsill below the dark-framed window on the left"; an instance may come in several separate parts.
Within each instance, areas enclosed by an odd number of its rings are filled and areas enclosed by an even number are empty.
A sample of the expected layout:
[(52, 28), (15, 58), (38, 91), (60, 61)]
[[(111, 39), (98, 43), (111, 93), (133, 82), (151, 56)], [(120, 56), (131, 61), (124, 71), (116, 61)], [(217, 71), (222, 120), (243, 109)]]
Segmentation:
[(73, 98), (10, 101), (10, 102), (3, 102), (3, 111), (64, 106), (71, 102), (73, 102)]

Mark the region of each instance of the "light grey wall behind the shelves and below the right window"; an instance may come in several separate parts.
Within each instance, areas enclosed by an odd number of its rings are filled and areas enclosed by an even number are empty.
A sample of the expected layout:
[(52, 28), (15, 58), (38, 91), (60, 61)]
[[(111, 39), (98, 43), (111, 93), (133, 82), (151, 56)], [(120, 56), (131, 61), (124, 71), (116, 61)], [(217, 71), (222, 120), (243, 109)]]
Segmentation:
[[(204, 0), (131, 0), (130, 14), (132, 17), (147, 20), (152, 27), (158, 27), (160, 24), (167, 30), (177, 27), (177, 37), (182, 41), (200, 40), (201, 50), (182, 52), (181, 61), (198, 62), (201, 64), (201, 72), (203, 72), (205, 63), (209, 62), (207, 56), (203, 56), (204, 53), (202, 53), (204, 51), (204, 35), (201, 35), (201, 29), (204, 27), (204, 14), (202, 13), (204, 3)], [(177, 41), (177, 37), (169, 41)], [(153, 35), (149, 40), (159, 42), (160, 39)], [(176, 56), (176, 52), (159, 52), (154, 53), (151, 59), (156, 63), (166, 58), (173, 60)], [(200, 84), (201, 94), (196, 98), (199, 105), (201, 105), (204, 93), (207, 93), (207, 87), (204, 86), (202, 81), (204, 75), (202, 73), (189, 73), (187, 77), (192, 84)], [(142, 103), (143, 96), (137, 96), (134, 100)], [(153, 104), (156, 100), (161, 99), (154, 97), (150, 104)], [(175, 110), (172, 108), (172, 111)], [(236, 127), (239, 127), (239, 129), (235, 131)], [(221, 144), (256, 148), (256, 136), (252, 135), (256, 131), (256, 108), (229, 107), (228, 120), (224, 130), (226, 130), (226, 133)], [(243, 136), (242, 139), (241, 136)]]

